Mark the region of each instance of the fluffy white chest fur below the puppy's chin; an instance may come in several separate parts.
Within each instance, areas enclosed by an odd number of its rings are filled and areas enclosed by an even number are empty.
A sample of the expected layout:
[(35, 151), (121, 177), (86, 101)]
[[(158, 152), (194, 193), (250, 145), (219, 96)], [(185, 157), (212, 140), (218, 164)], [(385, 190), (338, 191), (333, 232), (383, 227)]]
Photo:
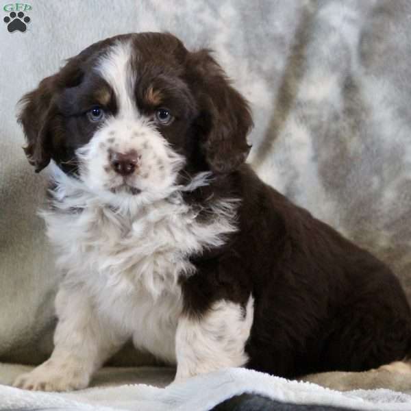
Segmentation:
[(64, 287), (81, 287), (97, 312), (132, 336), (136, 347), (175, 362), (182, 311), (179, 276), (195, 270), (190, 254), (219, 247), (236, 229), (235, 208), (233, 201), (216, 203), (212, 219), (200, 223), (176, 193), (124, 212), (64, 180), (55, 210), (43, 216)]

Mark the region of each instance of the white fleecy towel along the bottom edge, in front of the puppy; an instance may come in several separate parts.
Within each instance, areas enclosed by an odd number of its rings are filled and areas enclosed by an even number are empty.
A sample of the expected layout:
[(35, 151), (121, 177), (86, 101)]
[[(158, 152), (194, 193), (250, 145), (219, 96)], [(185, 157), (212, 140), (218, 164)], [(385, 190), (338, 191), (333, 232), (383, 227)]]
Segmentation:
[(355, 410), (411, 410), (411, 396), (403, 393), (382, 389), (339, 393), (308, 382), (288, 381), (246, 369), (199, 375), (166, 388), (136, 384), (88, 388), (74, 393), (39, 393), (0, 386), (0, 410), (206, 411), (242, 393), (256, 393), (286, 403), (343, 406)]

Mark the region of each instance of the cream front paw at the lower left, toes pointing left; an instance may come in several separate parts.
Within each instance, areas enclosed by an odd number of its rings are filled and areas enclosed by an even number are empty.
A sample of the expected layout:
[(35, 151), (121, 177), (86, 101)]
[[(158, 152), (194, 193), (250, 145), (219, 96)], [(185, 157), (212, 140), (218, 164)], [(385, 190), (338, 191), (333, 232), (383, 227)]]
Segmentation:
[(86, 388), (88, 382), (88, 375), (76, 364), (47, 360), (30, 373), (19, 375), (13, 386), (24, 390), (71, 391)]

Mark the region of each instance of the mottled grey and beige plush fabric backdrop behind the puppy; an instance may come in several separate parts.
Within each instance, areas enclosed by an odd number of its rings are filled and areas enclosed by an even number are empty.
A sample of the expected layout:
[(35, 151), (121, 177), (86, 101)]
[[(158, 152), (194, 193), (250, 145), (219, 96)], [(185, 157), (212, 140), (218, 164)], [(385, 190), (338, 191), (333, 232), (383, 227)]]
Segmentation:
[(251, 102), (260, 176), (390, 264), (411, 297), (410, 1), (30, 3), (27, 32), (0, 21), (0, 360), (49, 354), (59, 279), (36, 216), (45, 174), (23, 156), (16, 102), (65, 58), (125, 32), (216, 50)]

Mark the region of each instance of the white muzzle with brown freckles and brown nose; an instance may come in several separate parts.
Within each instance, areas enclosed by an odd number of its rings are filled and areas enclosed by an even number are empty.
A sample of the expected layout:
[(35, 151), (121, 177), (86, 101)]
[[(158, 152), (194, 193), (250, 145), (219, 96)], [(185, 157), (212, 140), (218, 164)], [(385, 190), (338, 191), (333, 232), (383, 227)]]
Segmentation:
[[(84, 181), (93, 189), (136, 195), (169, 190), (184, 159), (149, 119), (108, 119), (82, 154)], [(165, 194), (165, 191), (164, 191)]]

